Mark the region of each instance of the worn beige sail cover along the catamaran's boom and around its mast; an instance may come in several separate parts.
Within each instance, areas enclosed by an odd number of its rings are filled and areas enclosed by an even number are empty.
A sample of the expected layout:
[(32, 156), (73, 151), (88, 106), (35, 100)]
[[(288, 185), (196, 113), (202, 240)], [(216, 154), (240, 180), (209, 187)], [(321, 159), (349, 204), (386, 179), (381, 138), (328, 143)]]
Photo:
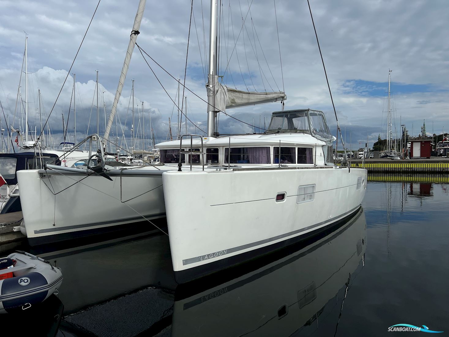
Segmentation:
[(283, 92), (258, 93), (228, 88), (220, 84), (217, 75), (209, 75), (209, 83), (206, 88), (208, 111), (225, 111), (239, 106), (285, 101), (287, 99)]

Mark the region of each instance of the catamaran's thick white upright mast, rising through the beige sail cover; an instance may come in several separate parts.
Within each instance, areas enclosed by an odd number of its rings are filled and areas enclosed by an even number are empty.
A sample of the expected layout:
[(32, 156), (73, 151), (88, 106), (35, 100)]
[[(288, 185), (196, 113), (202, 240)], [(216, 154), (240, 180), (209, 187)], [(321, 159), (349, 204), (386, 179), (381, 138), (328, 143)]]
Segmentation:
[[(216, 74), (217, 65), (217, 12), (218, 0), (211, 0), (211, 29), (209, 32), (209, 74), (208, 87), (213, 87), (215, 84), (214, 75)], [(215, 133), (215, 119), (217, 111), (215, 111), (215, 96), (214, 104), (211, 106), (207, 104), (207, 136), (212, 137)]]

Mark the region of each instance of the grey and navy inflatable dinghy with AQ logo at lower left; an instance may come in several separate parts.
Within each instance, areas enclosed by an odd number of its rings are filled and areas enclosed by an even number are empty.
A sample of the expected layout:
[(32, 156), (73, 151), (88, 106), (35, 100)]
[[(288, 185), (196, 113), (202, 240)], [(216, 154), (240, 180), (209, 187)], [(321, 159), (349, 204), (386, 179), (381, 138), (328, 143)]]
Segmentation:
[(0, 258), (0, 314), (43, 302), (61, 284), (61, 270), (40, 257), (18, 251)]

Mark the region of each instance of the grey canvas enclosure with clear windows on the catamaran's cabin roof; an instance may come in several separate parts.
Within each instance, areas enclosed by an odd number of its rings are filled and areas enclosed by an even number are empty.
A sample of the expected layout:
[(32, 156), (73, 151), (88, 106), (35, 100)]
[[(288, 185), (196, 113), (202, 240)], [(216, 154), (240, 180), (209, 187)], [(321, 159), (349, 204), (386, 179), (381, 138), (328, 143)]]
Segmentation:
[(268, 130), (277, 133), (310, 133), (313, 137), (328, 143), (335, 140), (322, 111), (310, 109), (273, 112)]

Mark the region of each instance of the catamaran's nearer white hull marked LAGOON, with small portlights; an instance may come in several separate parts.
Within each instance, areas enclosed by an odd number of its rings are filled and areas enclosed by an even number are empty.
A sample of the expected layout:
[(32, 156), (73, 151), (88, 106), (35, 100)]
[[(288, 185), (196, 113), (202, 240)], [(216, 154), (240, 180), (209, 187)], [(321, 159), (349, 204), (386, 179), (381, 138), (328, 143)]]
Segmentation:
[(163, 173), (176, 282), (335, 226), (360, 208), (366, 177), (362, 168), (332, 167)]

